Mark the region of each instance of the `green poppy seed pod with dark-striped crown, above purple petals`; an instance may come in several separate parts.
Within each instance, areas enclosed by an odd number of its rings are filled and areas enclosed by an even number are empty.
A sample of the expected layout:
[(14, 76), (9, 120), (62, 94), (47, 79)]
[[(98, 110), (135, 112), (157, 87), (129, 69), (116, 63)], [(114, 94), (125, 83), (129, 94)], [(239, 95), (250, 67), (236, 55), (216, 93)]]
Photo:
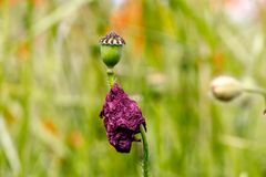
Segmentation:
[(110, 32), (100, 40), (101, 58), (108, 67), (114, 67), (121, 58), (122, 48), (125, 44), (123, 38), (114, 32)]

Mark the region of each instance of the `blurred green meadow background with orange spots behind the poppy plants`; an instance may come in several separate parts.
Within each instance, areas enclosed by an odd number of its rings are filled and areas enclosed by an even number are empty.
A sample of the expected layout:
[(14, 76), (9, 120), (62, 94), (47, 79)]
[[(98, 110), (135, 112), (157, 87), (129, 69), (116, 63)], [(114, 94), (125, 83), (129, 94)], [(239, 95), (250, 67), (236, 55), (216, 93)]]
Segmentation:
[(152, 176), (266, 176), (264, 100), (209, 94), (219, 74), (266, 87), (265, 1), (1, 0), (1, 177), (142, 175), (142, 144), (116, 153), (99, 118), (109, 31), (126, 41), (115, 73), (146, 118)]

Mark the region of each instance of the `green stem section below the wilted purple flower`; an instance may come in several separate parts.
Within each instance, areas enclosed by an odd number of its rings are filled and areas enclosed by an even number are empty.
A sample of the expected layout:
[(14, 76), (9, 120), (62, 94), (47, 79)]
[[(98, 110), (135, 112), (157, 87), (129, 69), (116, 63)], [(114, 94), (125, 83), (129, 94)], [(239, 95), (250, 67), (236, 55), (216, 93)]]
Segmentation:
[(149, 177), (149, 146), (147, 146), (147, 139), (146, 139), (146, 133), (144, 126), (141, 124), (141, 136), (142, 136), (142, 143), (143, 143), (143, 177)]

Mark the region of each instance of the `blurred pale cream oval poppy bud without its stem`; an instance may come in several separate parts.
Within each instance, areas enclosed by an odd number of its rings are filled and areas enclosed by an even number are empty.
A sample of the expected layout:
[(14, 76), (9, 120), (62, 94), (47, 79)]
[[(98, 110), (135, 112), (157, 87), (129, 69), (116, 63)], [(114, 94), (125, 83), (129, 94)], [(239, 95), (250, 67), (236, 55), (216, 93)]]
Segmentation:
[(211, 83), (211, 91), (219, 101), (231, 101), (243, 92), (242, 84), (231, 76), (218, 76)]

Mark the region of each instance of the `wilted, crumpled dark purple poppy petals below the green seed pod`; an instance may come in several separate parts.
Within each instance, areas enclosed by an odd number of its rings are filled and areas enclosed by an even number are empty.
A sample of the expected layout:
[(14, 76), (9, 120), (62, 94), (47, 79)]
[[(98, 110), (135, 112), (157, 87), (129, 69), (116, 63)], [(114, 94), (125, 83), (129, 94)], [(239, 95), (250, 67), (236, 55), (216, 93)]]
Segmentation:
[(104, 118), (110, 144), (121, 153), (130, 153), (131, 143), (140, 142), (135, 137), (135, 134), (140, 133), (140, 125), (146, 125), (136, 102), (132, 101), (117, 83), (106, 95), (100, 117)]

